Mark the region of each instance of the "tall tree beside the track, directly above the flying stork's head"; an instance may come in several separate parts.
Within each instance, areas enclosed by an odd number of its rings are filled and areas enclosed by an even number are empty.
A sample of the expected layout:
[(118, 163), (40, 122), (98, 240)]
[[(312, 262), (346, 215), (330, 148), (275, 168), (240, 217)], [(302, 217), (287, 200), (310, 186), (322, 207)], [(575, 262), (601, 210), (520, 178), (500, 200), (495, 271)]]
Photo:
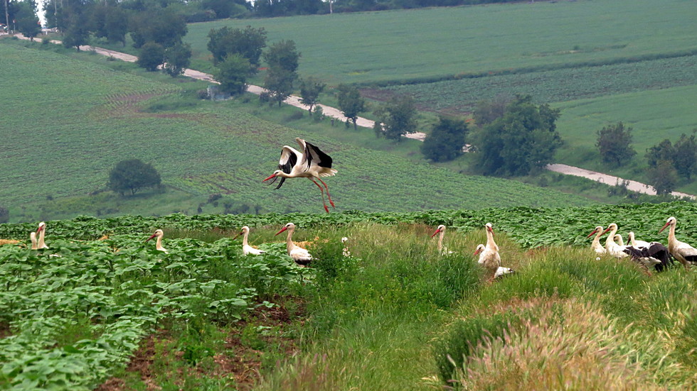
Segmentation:
[(293, 92), (293, 83), (298, 78), (298, 60), (300, 53), (292, 40), (282, 40), (270, 46), (264, 53), (268, 71), (264, 78), (264, 87), (270, 92), (270, 99), (278, 106)]

